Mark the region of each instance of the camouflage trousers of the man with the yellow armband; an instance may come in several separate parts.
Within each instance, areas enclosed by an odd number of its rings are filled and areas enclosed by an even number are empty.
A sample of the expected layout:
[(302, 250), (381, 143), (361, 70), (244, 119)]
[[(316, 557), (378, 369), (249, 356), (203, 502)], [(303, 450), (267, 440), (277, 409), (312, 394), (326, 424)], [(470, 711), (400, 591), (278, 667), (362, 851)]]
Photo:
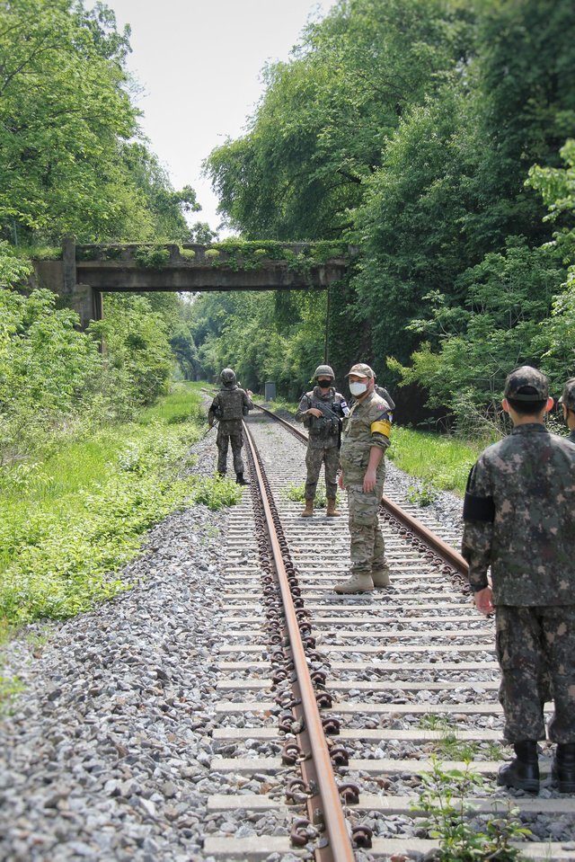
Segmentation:
[(363, 478), (361, 484), (348, 484), (347, 491), (351, 573), (381, 572), (385, 568), (385, 541), (379, 526), (383, 479), (370, 493), (363, 490)]

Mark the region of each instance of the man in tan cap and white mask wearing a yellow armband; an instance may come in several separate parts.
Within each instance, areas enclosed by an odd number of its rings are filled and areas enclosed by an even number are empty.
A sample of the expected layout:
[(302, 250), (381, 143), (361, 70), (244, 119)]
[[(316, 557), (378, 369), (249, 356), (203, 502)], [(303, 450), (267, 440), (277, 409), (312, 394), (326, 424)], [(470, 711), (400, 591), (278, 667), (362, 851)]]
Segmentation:
[(351, 577), (334, 588), (342, 594), (371, 592), (389, 585), (378, 511), (392, 425), (391, 407), (375, 390), (373, 370), (358, 363), (346, 377), (355, 404), (343, 421), (341, 437), (339, 484), (348, 492), (351, 538)]

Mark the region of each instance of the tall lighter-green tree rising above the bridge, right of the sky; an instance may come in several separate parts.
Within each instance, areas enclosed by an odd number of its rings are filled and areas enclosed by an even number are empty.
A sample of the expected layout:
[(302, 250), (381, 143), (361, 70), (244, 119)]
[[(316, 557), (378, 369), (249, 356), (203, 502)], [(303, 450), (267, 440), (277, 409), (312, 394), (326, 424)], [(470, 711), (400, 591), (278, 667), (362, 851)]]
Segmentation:
[(249, 237), (329, 239), (350, 226), (391, 132), (460, 60), (463, 6), (340, 0), (305, 31), (243, 138), (206, 167), (229, 224)]

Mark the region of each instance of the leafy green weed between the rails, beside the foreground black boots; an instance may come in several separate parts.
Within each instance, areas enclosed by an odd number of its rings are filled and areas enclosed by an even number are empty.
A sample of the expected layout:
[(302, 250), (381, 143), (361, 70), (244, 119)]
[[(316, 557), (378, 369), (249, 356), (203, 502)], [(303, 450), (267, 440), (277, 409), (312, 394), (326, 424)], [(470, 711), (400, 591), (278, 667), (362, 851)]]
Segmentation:
[(427, 815), (423, 825), (429, 838), (438, 840), (438, 862), (520, 859), (520, 850), (512, 841), (523, 839), (530, 831), (518, 820), (519, 809), (509, 807), (505, 816), (490, 819), (484, 826), (473, 822), (476, 808), (468, 796), (485, 785), (482, 776), (470, 769), (469, 760), (465, 769), (448, 770), (436, 758), (431, 761), (431, 771), (421, 777), (420, 798), (411, 807)]

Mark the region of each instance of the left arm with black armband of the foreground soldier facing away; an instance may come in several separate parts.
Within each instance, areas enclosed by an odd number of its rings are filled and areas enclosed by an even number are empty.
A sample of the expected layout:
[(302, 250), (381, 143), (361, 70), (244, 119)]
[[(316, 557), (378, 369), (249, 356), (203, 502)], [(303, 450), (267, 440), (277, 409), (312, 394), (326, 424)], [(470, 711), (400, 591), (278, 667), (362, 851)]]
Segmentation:
[(489, 472), (480, 458), (467, 480), (461, 543), (461, 554), (469, 565), (467, 577), (473, 593), (489, 587), (487, 570), (491, 564), (494, 518)]

